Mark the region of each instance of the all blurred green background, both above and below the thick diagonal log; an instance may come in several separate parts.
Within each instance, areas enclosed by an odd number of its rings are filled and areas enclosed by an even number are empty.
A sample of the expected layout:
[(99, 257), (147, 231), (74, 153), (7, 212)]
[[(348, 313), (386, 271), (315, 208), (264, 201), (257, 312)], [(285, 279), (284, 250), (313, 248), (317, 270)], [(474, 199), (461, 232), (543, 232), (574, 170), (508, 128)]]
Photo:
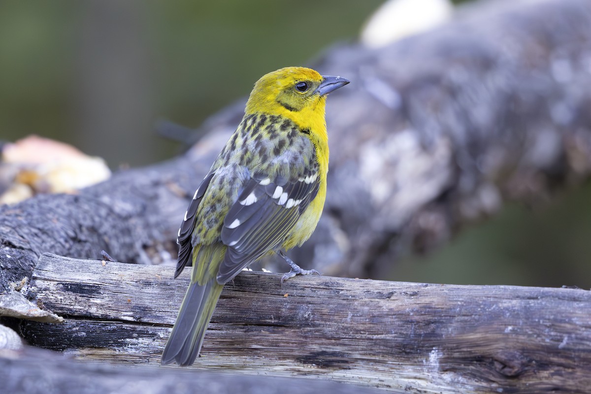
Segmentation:
[[(0, 140), (66, 141), (112, 168), (172, 157), (159, 118), (195, 128), (262, 74), (353, 41), (381, 1), (0, 2)], [(591, 288), (591, 185), (506, 207), (387, 279)]]

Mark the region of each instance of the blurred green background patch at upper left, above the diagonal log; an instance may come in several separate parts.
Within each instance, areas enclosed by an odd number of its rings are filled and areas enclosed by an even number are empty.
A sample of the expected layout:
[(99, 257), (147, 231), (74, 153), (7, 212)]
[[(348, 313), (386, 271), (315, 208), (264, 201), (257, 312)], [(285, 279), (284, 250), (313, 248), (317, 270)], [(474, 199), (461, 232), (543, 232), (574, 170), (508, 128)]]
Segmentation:
[(0, 138), (67, 141), (111, 167), (171, 157), (154, 123), (197, 127), (254, 82), (354, 40), (380, 1), (0, 2)]

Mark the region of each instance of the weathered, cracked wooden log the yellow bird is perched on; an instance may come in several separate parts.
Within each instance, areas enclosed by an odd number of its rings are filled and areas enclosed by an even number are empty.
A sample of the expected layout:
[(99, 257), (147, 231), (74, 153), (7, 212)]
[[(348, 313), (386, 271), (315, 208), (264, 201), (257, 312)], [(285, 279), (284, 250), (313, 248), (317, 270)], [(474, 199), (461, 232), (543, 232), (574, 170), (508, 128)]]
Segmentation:
[[(62, 324), (24, 321), (35, 346), (157, 363), (189, 281), (173, 269), (44, 255), (38, 301)], [(194, 367), (306, 375), (425, 393), (583, 393), (591, 292), (412, 284), (244, 272), (225, 287)]]

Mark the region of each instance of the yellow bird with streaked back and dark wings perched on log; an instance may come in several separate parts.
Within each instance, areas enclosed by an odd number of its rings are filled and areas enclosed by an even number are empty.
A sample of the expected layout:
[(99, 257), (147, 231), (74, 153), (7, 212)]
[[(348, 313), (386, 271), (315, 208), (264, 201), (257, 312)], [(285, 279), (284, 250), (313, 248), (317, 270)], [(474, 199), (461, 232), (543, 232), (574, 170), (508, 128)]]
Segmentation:
[(309, 239), (322, 214), (326, 97), (348, 83), (306, 67), (285, 67), (255, 83), (242, 121), (197, 187), (178, 230), (174, 278), (187, 265), (193, 271), (161, 364), (194, 363), (223, 286), (252, 262), (280, 255), (290, 265), (281, 283), (318, 273), (301, 269), (284, 250)]

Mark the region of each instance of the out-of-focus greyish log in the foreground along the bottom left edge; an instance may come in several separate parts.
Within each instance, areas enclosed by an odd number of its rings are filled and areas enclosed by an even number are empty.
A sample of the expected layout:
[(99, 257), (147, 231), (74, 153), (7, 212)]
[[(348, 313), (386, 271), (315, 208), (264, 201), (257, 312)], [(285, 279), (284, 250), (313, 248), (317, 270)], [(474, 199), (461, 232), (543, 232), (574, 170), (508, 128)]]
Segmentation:
[(0, 350), (3, 393), (27, 394), (376, 394), (381, 391), (319, 379), (232, 375), (153, 366), (121, 367), (74, 362), (71, 357), (27, 347)]

